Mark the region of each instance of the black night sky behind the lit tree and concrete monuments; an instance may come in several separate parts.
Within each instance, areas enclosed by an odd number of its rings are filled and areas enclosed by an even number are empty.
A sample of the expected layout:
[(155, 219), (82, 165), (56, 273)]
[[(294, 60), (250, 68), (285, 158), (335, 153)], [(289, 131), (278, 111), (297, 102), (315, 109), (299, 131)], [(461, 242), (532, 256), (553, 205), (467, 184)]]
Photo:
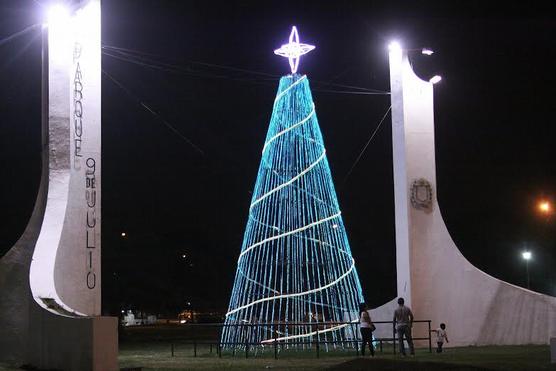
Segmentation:
[[(39, 22), (47, 3), (0, 3), (0, 40)], [(324, 4), (104, 1), (112, 56), (103, 69), (127, 90), (103, 76), (106, 313), (226, 308), (278, 78), (288, 72), (272, 51), (294, 24), (317, 46), (300, 72), (369, 303), (396, 295), (390, 117), (346, 175), (390, 102), (341, 85), (388, 91), (393, 38), (436, 52), (412, 62), (423, 78), (443, 76), (438, 197), (454, 240), (473, 264), (517, 285), (528, 246), (532, 288), (556, 295), (556, 221), (535, 211), (540, 198), (556, 201), (554, 13), (474, 1)], [(0, 255), (23, 231), (38, 188), (39, 30), (0, 41)], [(116, 59), (114, 47), (135, 56)]]

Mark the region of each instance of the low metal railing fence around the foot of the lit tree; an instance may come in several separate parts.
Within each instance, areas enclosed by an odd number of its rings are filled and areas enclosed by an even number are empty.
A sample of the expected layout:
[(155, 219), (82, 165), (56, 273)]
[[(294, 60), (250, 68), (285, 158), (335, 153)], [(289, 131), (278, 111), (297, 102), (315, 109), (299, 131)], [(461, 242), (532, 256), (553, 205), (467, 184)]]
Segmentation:
[[(384, 352), (386, 346), (392, 348), (392, 352), (396, 354), (396, 347), (398, 344), (398, 336), (396, 327), (393, 321), (374, 321), (373, 322), (377, 330), (373, 333), (373, 344), (375, 350), (378, 352)], [(432, 338), (431, 338), (431, 320), (415, 320), (413, 324), (425, 324), (425, 329), (419, 331), (421, 334), (425, 330), (426, 336), (416, 336), (413, 337), (414, 341), (426, 341), (428, 342), (429, 352), (432, 352)], [(241, 341), (237, 342), (222, 342), (221, 333), (222, 329), (227, 326), (236, 327), (236, 330), (241, 331), (245, 334)], [(287, 339), (281, 340), (279, 336), (279, 331), (274, 331), (274, 338), (268, 339), (265, 342), (251, 342), (249, 341), (249, 334), (252, 331), (256, 331), (257, 327), (272, 327), (274, 329), (291, 329), (297, 326), (303, 326), (307, 328), (310, 326), (313, 331), (311, 334), (305, 336), (306, 339), (299, 337), (297, 339)], [(344, 332), (344, 336), (339, 339), (330, 340), (330, 337), (325, 337), (326, 333), (330, 332), (330, 328), (343, 326), (344, 329), (349, 330)], [(178, 346), (188, 345), (192, 347), (191, 355), (197, 357), (199, 347), (209, 348), (210, 354), (216, 354), (218, 357), (222, 357), (222, 353), (231, 353), (232, 356), (244, 355), (245, 358), (256, 355), (258, 352), (268, 352), (271, 351), (275, 359), (278, 359), (278, 354), (284, 350), (296, 349), (296, 350), (307, 350), (315, 352), (317, 358), (320, 357), (320, 353), (324, 348), (324, 351), (329, 350), (345, 350), (353, 351), (355, 355), (360, 354), (361, 346), (361, 336), (359, 333), (359, 322), (300, 322), (300, 323), (284, 323), (284, 322), (272, 322), (272, 323), (237, 323), (237, 324), (224, 324), (224, 323), (199, 323), (199, 324), (182, 324), (180, 327), (189, 328), (196, 330), (200, 328), (215, 328), (218, 331), (217, 339), (203, 339), (201, 336), (188, 337), (187, 339), (173, 339), (170, 342), (170, 354), (172, 357), (175, 356)], [(390, 327), (390, 330), (384, 327)], [(328, 331), (327, 331), (328, 330)], [(391, 331), (391, 333), (390, 333)], [(193, 331), (197, 333), (197, 331)], [(377, 335), (382, 336), (377, 336)], [(387, 335), (386, 335), (387, 334)], [(390, 336), (391, 334), (391, 336)], [(351, 335), (351, 337), (350, 337)]]

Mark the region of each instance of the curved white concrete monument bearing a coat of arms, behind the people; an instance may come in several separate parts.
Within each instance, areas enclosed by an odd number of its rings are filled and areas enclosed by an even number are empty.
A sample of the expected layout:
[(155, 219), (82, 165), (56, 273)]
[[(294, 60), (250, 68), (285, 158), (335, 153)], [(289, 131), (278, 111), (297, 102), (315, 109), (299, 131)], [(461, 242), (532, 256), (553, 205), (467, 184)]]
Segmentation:
[[(482, 272), (450, 237), (436, 197), (433, 84), (415, 75), (401, 48), (390, 51), (390, 84), (398, 296), (417, 318), (446, 323), (452, 346), (548, 344), (556, 298)], [(375, 309), (374, 319), (391, 320), (395, 307)]]

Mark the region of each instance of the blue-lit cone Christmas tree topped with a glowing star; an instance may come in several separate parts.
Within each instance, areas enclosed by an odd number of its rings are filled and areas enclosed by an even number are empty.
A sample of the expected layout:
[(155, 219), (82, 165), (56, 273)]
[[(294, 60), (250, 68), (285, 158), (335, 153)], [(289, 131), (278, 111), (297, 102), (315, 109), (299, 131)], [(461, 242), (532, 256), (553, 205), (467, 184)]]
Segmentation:
[(309, 81), (297, 74), (312, 49), (294, 27), (275, 51), (292, 74), (274, 100), (226, 313), (226, 324), (243, 326), (224, 328), (224, 346), (311, 342), (317, 329), (319, 341), (339, 342), (357, 327), (337, 323), (358, 321), (363, 296)]

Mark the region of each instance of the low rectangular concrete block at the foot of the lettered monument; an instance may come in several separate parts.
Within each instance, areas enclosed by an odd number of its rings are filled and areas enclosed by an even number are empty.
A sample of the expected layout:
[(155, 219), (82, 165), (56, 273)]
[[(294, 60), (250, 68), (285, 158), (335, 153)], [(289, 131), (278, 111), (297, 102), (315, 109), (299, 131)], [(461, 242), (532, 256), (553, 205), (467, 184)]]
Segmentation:
[[(69, 318), (38, 309), (31, 319), (29, 363), (64, 371), (118, 370), (118, 318)], [(35, 323), (38, 321), (39, 323)], [(36, 325), (36, 326), (35, 326)]]

